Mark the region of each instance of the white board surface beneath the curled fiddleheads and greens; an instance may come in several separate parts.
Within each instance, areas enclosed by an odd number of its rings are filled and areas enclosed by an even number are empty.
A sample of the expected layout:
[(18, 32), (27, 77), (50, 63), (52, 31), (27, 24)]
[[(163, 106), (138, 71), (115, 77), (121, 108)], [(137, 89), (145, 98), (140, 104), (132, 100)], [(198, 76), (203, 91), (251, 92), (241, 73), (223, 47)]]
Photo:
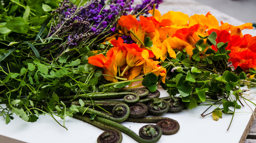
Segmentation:
[[(160, 97), (168, 96), (168, 93), (161, 87)], [(256, 91), (256, 90), (255, 90)], [(255, 96), (252, 93), (251, 96)], [(242, 101), (244, 103), (244, 101)], [(255, 102), (255, 101), (254, 101)], [(254, 110), (255, 106), (249, 102), (249, 106)], [(256, 102), (255, 102), (256, 103)], [(229, 128), (232, 114), (223, 114), (223, 118), (215, 121), (211, 115), (204, 118), (200, 116), (208, 106), (198, 106), (192, 110), (185, 109), (177, 113), (165, 113), (163, 117), (175, 119), (180, 124), (180, 130), (174, 135), (162, 135), (159, 143), (166, 141), (176, 143), (238, 143), (243, 135), (246, 125), (252, 115), (252, 109), (244, 103), (245, 107), (236, 109), (236, 113)], [(2, 106), (2, 105), (1, 105)], [(206, 113), (211, 112), (214, 107), (210, 108)], [(59, 122), (63, 120), (58, 119)], [(139, 128), (144, 123), (123, 122), (122, 125), (128, 127), (138, 134)], [(66, 118), (65, 126), (68, 131), (59, 126), (50, 116), (40, 115), (36, 122), (25, 122), (21, 118), (15, 116), (14, 120), (6, 125), (5, 120), (0, 118), (0, 135), (11, 137), (29, 143), (45, 143), (45, 142), (80, 142), (96, 143), (97, 137), (103, 133), (102, 130), (87, 124), (83, 121)], [(131, 137), (122, 134), (122, 143), (136, 142)], [(1, 140), (0, 140), (1, 142)]]

